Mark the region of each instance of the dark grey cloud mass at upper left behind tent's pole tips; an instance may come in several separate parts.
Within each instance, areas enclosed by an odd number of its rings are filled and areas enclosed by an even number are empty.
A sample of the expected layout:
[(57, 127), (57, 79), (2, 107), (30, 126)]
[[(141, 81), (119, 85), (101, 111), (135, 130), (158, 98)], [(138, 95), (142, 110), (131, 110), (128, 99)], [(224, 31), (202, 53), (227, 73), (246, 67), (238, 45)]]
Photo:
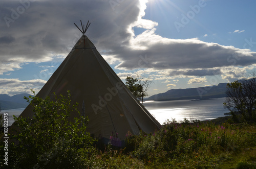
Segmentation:
[[(99, 50), (112, 50), (113, 46), (127, 44), (127, 38), (131, 37), (131, 33), (126, 31), (127, 27), (137, 19), (140, 10), (139, 2), (135, 0), (123, 1), (114, 10), (109, 1), (101, 0), (26, 2), (30, 3), (27, 9), (18, 1), (0, 2), (0, 18), (3, 21), (0, 22), (0, 37), (8, 33), (15, 38), (2, 40), (12, 42), (12, 45), (0, 43), (2, 61), (20, 59), (20, 56), (24, 60), (43, 61), (50, 53), (61, 51), (68, 54), (81, 36), (73, 25), (74, 22), (79, 25), (80, 19), (85, 24), (90, 20), (87, 35)], [(25, 11), (19, 14), (19, 7)]]

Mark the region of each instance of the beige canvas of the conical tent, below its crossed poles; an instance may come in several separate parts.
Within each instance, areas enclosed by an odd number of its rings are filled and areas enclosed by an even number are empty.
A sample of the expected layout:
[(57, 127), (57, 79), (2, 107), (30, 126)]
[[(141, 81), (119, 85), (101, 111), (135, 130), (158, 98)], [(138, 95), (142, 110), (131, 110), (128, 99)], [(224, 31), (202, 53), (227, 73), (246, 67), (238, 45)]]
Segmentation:
[[(150, 133), (160, 129), (157, 120), (137, 101), (109, 64), (102, 58), (89, 38), (83, 35), (66, 59), (60, 64), (37, 96), (71, 93), (71, 104), (79, 103), (78, 110), (89, 117), (87, 131), (98, 138), (110, 138), (118, 133)], [(84, 102), (84, 104), (83, 104)], [(83, 105), (83, 108), (82, 108)], [(31, 106), (21, 114), (33, 116)], [(71, 114), (71, 118), (78, 114)]]

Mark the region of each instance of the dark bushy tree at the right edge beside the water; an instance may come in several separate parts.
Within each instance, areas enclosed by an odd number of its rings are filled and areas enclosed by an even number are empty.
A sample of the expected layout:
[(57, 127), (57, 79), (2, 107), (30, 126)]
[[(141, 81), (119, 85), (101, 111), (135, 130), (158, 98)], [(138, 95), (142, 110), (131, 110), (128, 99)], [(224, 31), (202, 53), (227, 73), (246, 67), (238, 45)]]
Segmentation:
[(240, 114), (246, 120), (255, 118), (256, 108), (256, 78), (243, 79), (227, 84), (227, 98), (223, 103), (234, 120), (238, 120), (236, 114)]

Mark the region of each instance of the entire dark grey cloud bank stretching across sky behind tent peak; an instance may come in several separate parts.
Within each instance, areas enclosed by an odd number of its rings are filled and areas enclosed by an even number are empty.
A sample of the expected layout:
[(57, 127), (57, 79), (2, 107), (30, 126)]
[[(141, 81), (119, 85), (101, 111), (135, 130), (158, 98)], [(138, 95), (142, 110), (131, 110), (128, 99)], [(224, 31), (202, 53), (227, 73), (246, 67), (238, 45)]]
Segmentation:
[[(137, 0), (117, 1), (116, 6), (103, 0), (21, 2), (27, 4), (0, 2), (1, 63), (42, 62), (54, 55), (66, 56), (81, 36), (73, 25), (75, 22), (80, 26), (80, 19), (84, 24), (90, 20), (86, 35), (102, 55), (111, 55), (120, 62), (116, 66), (119, 69), (173, 69), (174, 75), (212, 76), (221, 67), (256, 63), (256, 53), (249, 50), (156, 35), (157, 23), (139, 16), (142, 7)], [(131, 28), (136, 24), (147, 30), (135, 37)]]

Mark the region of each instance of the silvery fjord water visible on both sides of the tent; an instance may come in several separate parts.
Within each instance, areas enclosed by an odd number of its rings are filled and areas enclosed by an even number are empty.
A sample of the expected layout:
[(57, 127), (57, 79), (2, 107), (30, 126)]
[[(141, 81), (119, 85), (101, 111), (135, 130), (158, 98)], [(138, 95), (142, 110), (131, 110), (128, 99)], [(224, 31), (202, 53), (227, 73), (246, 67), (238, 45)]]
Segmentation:
[[(163, 124), (167, 119), (172, 120), (173, 118), (179, 122), (184, 117), (188, 120), (190, 118), (207, 120), (225, 116), (224, 113), (228, 112), (228, 110), (223, 107), (224, 101), (225, 98), (199, 101), (146, 101), (143, 105), (160, 124)], [(18, 116), (24, 109), (2, 110), (2, 113), (8, 112), (8, 126), (11, 126), (14, 122), (12, 115)]]

